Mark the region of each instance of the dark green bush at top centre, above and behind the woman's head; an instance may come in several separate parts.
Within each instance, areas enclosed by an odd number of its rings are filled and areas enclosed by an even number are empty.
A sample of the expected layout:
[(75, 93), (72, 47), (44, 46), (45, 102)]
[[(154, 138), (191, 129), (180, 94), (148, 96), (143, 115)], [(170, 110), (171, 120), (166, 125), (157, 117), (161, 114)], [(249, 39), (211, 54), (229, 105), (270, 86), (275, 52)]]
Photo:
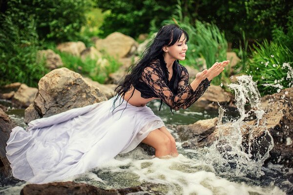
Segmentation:
[(102, 36), (118, 31), (136, 38), (148, 33), (150, 22), (160, 25), (162, 20), (169, 18), (175, 4), (176, 0), (97, 0), (99, 8), (110, 10), (101, 26)]

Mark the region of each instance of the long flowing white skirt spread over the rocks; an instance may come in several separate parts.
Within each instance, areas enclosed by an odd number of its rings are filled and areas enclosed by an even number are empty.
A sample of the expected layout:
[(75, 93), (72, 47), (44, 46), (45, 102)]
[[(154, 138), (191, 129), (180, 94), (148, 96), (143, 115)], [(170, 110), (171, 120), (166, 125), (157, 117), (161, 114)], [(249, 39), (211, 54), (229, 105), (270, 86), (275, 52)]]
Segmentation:
[(147, 106), (112, 106), (113, 98), (13, 128), (6, 147), (13, 176), (47, 183), (82, 174), (165, 126)]

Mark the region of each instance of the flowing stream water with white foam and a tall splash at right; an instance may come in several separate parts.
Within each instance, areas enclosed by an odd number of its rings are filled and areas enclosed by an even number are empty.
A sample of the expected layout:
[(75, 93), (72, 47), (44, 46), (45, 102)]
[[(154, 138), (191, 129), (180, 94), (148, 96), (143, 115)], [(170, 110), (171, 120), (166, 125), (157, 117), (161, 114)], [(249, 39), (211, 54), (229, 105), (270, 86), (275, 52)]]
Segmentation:
[[(273, 140), (264, 152), (252, 153), (252, 132), (248, 133), (248, 149), (242, 145), (245, 118), (254, 116), (259, 123), (264, 111), (260, 105), (260, 95), (250, 76), (238, 77), (238, 83), (230, 84), (235, 92), (238, 112), (230, 116), (227, 109), (220, 107), (219, 113), (207, 113), (196, 106), (170, 114), (167, 106), (157, 112), (160, 102), (149, 104), (166, 124), (190, 124), (199, 119), (219, 116), (220, 137), (210, 147), (186, 150), (177, 142), (179, 156), (170, 159), (148, 156), (142, 148), (116, 156), (99, 168), (75, 176), (70, 180), (97, 187), (126, 188), (142, 186), (149, 194), (162, 195), (286, 195), (293, 193), (293, 169), (271, 163), (264, 165), (273, 147)], [(251, 110), (245, 110), (249, 103)], [(23, 111), (22, 111), (23, 112)], [(228, 113), (228, 114), (227, 114)], [(8, 112), (21, 122), (13, 109)], [(225, 119), (224, 119), (225, 118)], [(176, 132), (170, 129), (174, 137)], [(26, 183), (19, 182), (0, 188), (0, 194), (19, 194)], [(133, 193), (135, 194), (135, 193)], [(136, 193), (142, 195), (144, 193)]]

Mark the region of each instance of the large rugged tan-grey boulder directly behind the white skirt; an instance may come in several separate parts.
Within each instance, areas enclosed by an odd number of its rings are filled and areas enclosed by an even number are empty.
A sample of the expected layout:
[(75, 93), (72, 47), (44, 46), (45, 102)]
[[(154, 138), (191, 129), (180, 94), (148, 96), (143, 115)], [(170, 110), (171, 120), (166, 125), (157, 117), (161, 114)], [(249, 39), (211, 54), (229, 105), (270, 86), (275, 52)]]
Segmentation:
[(72, 108), (107, 99), (97, 87), (86, 82), (80, 74), (67, 68), (49, 72), (40, 79), (38, 86), (39, 91), (34, 99), (33, 107), (25, 111), (27, 122), (36, 116), (35, 111), (39, 117), (50, 117)]

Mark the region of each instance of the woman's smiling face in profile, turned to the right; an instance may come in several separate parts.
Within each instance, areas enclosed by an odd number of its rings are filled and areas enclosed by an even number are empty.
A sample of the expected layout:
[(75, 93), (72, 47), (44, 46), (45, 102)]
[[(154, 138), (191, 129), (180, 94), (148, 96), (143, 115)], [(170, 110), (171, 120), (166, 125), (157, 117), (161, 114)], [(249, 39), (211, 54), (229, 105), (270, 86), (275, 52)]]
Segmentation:
[(166, 49), (166, 53), (170, 58), (184, 60), (188, 49), (184, 33), (182, 33), (180, 39), (174, 45), (169, 46)]

